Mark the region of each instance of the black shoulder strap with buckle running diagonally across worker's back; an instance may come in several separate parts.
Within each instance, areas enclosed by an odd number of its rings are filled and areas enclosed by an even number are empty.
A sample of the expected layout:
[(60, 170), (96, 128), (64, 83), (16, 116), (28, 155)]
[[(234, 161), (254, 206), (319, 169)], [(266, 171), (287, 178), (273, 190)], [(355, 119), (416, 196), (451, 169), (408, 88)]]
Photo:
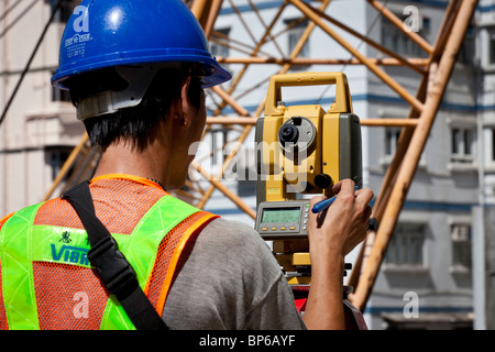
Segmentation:
[(167, 326), (141, 289), (134, 270), (119, 251), (116, 240), (95, 215), (89, 182), (84, 182), (63, 196), (76, 210), (88, 233), (91, 249), (88, 260), (107, 289), (116, 295), (138, 330), (162, 330)]

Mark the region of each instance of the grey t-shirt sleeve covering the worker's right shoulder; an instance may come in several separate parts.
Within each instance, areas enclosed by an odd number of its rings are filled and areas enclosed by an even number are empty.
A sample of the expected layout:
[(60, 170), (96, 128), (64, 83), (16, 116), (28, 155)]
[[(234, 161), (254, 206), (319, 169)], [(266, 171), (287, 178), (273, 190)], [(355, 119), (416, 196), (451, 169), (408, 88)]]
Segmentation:
[(179, 330), (306, 329), (266, 243), (248, 224), (226, 219), (198, 235), (163, 318)]

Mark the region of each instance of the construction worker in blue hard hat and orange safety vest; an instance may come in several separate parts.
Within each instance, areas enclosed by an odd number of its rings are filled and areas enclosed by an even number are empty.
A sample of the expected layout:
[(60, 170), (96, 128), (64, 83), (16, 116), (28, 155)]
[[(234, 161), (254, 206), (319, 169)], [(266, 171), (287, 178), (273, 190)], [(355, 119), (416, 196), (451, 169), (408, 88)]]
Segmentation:
[(326, 217), (310, 216), (304, 320), (251, 227), (167, 193), (201, 138), (204, 88), (230, 78), (180, 0), (75, 9), (52, 81), (101, 160), (89, 183), (0, 221), (0, 329), (343, 328), (343, 257), (366, 233), (370, 189), (341, 182)]

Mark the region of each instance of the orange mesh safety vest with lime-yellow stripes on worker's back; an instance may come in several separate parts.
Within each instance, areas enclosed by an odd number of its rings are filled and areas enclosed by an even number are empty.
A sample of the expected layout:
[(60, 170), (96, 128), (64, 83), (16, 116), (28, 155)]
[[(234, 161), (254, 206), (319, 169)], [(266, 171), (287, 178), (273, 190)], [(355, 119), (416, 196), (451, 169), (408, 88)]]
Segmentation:
[[(86, 231), (36, 224), (43, 205), (9, 216), (0, 228), (0, 329), (134, 329), (89, 265)], [(165, 194), (131, 234), (112, 233), (160, 315), (186, 244), (215, 218)]]

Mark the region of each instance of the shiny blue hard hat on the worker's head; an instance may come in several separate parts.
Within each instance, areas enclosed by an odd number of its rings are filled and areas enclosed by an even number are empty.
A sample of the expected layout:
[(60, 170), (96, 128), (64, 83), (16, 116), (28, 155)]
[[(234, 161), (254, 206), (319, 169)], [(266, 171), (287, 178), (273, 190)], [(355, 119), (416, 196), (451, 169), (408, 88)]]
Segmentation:
[(82, 0), (67, 22), (52, 84), (107, 67), (194, 63), (202, 86), (232, 76), (210, 54), (205, 33), (182, 0)]

